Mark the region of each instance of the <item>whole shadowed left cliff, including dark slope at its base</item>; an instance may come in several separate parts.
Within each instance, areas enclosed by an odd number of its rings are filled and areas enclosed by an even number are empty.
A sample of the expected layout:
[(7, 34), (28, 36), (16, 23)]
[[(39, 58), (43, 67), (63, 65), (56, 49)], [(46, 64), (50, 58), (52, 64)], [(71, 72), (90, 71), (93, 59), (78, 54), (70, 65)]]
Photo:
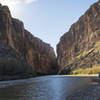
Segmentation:
[[(2, 48), (4, 48), (4, 51)], [(10, 67), (7, 55), (10, 55), (10, 62), (13, 63), (14, 68)], [(0, 74), (5, 74), (6, 71), (8, 75), (11, 72), (12, 74), (19, 73), (16, 70), (22, 70), (23, 73), (32, 72), (42, 74), (53, 74), (57, 72), (56, 56), (53, 48), (28, 32), (24, 28), (23, 22), (12, 18), (9, 8), (1, 4), (0, 59), (2, 59), (0, 60), (1, 63), (6, 60), (5, 70), (2, 70), (3, 65), (0, 63)], [(31, 69), (31, 71), (27, 69)]]

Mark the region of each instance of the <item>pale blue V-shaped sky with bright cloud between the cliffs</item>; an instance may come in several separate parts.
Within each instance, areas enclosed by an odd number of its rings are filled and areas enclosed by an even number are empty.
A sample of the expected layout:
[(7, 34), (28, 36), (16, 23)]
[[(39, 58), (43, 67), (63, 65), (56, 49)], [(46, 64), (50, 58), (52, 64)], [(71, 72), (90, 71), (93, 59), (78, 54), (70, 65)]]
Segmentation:
[(98, 0), (0, 0), (13, 17), (56, 51), (60, 37)]

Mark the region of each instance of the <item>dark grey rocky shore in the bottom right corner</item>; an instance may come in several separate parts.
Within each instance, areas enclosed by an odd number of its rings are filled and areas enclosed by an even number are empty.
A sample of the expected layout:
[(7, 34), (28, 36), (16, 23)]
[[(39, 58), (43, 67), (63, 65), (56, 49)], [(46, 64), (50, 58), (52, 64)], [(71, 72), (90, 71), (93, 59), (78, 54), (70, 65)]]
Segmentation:
[(66, 100), (100, 100), (100, 84), (93, 82), (75, 91)]

